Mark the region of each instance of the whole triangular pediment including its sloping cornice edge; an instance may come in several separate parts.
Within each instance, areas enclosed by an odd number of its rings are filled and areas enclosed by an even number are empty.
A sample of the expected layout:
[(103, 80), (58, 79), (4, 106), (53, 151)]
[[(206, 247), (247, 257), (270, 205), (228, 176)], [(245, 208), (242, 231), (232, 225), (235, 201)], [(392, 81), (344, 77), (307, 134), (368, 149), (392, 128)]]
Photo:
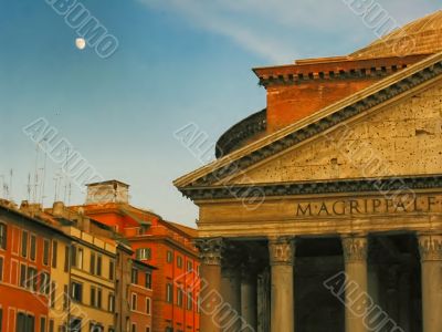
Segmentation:
[[(441, 77), (442, 53), (201, 167), (175, 185), (188, 193), (225, 184), (439, 174)], [(369, 160), (365, 148), (362, 155), (349, 159), (365, 145), (382, 160), (378, 170), (362, 170)]]

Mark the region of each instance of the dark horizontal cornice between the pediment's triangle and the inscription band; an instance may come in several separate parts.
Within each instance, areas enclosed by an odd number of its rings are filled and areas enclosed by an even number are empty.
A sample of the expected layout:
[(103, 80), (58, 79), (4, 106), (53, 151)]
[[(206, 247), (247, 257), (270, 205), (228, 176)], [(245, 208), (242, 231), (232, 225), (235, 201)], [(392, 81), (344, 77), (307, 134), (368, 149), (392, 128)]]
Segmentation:
[[(254, 190), (251, 190), (253, 188)], [(296, 196), (337, 193), (370, 193), (398, 189), (442, 188), (442, 174), (431, 176), (403, 176), (365, 179), (336, 179), (280, 184), (253, 184), (218, 187), (186, 187), (181, 193), (193, 200), (246, 198), (259, 190), (263, 197)]]

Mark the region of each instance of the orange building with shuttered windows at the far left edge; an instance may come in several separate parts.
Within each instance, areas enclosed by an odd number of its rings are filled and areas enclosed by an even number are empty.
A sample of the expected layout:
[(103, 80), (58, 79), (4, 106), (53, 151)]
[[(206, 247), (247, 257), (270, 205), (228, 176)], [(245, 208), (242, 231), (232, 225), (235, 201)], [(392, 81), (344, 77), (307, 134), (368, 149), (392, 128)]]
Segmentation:
[(0, 331), (49, 329), (53, 239), (63, 232), (0, 203)]

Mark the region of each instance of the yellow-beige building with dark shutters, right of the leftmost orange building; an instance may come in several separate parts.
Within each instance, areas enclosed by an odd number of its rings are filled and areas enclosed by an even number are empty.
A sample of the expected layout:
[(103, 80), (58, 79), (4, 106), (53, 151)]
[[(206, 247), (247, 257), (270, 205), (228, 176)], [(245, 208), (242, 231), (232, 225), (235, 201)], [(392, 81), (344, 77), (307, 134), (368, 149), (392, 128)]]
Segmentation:
[(54, 269), (54, 279), (63, 284), (63, 289), (56, 288), (54, 295), (57, 299), (54, 313), (60, 305), (65, 312), (63, 320), (67, 326), (62, 329), (114, 332), (117, 242), (99, 222), (62, 203), (55, 203), (46, 211), (61, 222), (71, 239), (69, 251), (59, 249), (59, 256), (64, 252), (63, 259), (59, 259), (63, 264)]

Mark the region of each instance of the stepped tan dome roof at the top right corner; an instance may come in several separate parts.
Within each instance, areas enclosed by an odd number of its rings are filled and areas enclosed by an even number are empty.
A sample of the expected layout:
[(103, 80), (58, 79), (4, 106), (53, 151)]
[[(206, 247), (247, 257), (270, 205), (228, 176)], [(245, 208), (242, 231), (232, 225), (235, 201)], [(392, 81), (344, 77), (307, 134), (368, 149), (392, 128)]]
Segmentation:
[(440, 51), (442, 51), (442, 10), (396, 29), (350, 56), (404, 56)]

